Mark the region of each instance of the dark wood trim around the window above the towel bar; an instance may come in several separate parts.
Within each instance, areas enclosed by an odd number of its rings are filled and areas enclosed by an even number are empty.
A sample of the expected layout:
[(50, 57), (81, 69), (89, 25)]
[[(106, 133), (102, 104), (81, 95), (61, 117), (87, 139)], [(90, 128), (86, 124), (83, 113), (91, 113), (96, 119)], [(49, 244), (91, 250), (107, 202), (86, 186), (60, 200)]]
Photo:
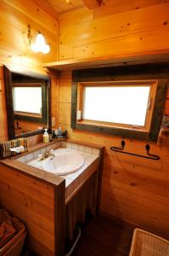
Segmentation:
[[(131, 131), (121, 128), (96, 126), (76, 123), (77, 108), (77, 84), (78, 82), (97, 81), (122, 81), (122, 80), (146, 80), (158, 79), (158, 90), (155, 96), (155, 111), (149, 133), (143, 131)], [(156, 141), (161, 127), (162, 110), (165, 103), (166, 83), (169, 79), (169, 64), (146, 64), (128, 67), (104, 67), (76, 70), (72, 75), (71, 90), (71, 128), (93, 132), (103, 132), (114, 136), (131, 137), (134, 139)]]

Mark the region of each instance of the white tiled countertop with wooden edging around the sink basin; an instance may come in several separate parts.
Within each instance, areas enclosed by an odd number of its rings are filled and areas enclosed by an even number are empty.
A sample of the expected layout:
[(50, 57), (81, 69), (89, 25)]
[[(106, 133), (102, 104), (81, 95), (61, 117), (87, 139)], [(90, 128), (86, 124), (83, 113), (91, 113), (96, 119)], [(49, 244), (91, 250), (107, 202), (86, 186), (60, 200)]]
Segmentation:
[[(66, 176), (56, 176), (54, 173), (43, 171), (41, 169), (41, 163), (38, 163), (37, 166), (35, 165), (35, 160), (37, 159), (38, 154), (44, 154), (46, 151), (56, 148), (59, 148), (59, 150), (61, 150), (61, 148), (72, 149), (82, 154), (85, 160), (84, 166), (82, 166), (79, 171), (72, 174)], [(101, 148), (103, 147), (72, 140), (68, 140), (66, 142), (56, 140), (53, 143), (37, 144), (36, 147), (32, 147), (27, 153), (0, 160), (0, 162), (3, 166), (7, 166), (8, 168), (12, 168), (18, 172), (25, 173), (27, 176), (36, 177), (37, 179), (51, 183), (54, 186), (58, 186), (65, 180), (65, 192), (66, 196), (68, 197), (72, 190), (75, 191), (78, 185), (82, 183), (82, 180), (85, 179), (85, 177), (87, 179), (87, 175), (92, 175), (92, 172), (95, 172), (96, 168), (98, 168), (97, 166), (99, 166)]]

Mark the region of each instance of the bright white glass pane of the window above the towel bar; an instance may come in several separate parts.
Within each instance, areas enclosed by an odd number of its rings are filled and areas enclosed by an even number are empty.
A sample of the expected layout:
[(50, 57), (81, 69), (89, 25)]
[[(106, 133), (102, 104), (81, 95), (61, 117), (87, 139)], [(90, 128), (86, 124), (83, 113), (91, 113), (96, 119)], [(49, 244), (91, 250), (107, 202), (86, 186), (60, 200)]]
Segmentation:
[(149, 85), (85, 86), (82, 119), (144, 126), (149, 89)]

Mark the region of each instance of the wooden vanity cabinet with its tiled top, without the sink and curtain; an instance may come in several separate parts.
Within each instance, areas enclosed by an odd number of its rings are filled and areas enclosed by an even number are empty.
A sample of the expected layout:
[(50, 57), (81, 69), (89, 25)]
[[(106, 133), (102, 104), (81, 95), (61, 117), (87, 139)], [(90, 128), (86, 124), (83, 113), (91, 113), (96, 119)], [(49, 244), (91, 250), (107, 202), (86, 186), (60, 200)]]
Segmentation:
[[(48, 147), (79, 148), (82, 154), (96, 153), (95, 160), (88, 163), (82, 176), (76, 177), (70, 183), (69, 177), (54, 176), (54, 174), (28, 165), (32, 154), (37, 154), (37, 149), (23, 154), (22, 159), (10, 158), (0, 161), (0, 206), (13, 212), (25, 224), (27, 244), (30, 250), (37, 255), (65, 255), (65, 224), (67, 208), (76, 195), (82, 191), (87, 181), (95, 175), (97, 193), (95, 196), (96, 207), (99, 209), (99, 190), (101, 186), (101, 156), (103, 148), (94, 148), (85, 145), (64, 142), (41, 144), (38, 150), (48, 150)], [(25, 162), (24, 160), (25, 159)]]

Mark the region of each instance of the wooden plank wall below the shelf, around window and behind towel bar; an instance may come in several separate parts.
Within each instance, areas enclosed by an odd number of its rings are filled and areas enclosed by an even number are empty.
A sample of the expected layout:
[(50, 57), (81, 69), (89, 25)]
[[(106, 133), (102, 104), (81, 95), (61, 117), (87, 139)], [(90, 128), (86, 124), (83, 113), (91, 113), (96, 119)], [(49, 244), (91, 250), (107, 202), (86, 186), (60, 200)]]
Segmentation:
[[(160, 145), (149, 143), (150, 153), (160, 155), (159, 161), (115, 153), (110, 146), (120, 146), (121, 137), (70, 129), (70, 95), (71, 73), (63, 72), (59, 78), (59, 125), (68, 130), (72, 139), (105, 146), (102, 212), (169, 236), (169, 137)], [(167, 114), (168, 96), (169, 87)], [(148, 142), (125, 141), (127, 151), (145, 154)]]

